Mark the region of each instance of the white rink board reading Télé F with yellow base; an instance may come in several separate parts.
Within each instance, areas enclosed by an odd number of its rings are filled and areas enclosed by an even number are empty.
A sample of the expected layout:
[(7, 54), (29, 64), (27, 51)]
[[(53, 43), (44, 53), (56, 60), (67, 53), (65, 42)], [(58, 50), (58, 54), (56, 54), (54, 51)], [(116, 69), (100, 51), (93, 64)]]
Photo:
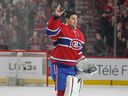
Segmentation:
[[(96, 64), (98, 71), (95, 75), (85, 77), (85, 85), (125, 85), (128, 86), (127, 58), (87, 58)], [(51, 78), (50, 78), (51, 79)], [(49, 84), (54, 84), (49, 80)]]

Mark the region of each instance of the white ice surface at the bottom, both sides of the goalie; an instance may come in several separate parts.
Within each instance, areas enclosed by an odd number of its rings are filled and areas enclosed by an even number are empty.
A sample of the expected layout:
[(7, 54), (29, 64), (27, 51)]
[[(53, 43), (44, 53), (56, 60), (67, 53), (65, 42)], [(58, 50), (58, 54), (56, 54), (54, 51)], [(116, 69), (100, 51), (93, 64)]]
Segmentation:
[[(0, 96), (56, 96), (53, 86), (0, 86)], [(84, 86), (80, 96), (128, 96), (128, 86)]]

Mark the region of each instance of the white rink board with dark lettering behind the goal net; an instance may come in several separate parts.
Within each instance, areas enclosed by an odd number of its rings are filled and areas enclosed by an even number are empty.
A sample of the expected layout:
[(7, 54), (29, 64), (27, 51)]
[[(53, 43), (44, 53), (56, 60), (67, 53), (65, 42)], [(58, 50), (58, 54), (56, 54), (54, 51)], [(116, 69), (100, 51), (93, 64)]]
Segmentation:
[(46, 85), (46, 65), (46, 52), (0, 52), (0, 85)]

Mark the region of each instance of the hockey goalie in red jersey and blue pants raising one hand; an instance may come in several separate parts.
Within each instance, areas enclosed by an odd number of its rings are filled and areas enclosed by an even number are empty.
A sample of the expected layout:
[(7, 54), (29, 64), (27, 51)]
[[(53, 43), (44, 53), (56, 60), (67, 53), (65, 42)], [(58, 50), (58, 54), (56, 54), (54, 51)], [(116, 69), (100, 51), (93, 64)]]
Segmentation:
[[(65, 14), (66, 23), (61, 23)], [(81, 80), (76, 77), (77, 70), (84, 72), (81, 60), (85, 59), (82, 48), (85, 38), (77, 28), (77, 14), (62, 10), (58, 5), (55, 14), (48, 21), (46, 33), (53, 40), (54, 50), (51, 56), (51, 76), (56, 84), (57, 96), (78, 96)], [(78, 64), (78, 66), (76, 66)], [(86, 69), (86, 68), (85, 68)]]

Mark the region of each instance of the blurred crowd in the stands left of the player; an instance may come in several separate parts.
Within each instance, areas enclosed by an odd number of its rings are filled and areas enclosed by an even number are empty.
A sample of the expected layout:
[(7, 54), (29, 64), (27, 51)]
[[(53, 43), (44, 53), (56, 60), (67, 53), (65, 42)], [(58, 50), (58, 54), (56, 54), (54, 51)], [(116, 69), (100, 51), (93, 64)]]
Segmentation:
[(0, 0), (1, 44), (9, 50), (51, 50), (45, 26), (59, 3), (75, 8), (74, 0)]

